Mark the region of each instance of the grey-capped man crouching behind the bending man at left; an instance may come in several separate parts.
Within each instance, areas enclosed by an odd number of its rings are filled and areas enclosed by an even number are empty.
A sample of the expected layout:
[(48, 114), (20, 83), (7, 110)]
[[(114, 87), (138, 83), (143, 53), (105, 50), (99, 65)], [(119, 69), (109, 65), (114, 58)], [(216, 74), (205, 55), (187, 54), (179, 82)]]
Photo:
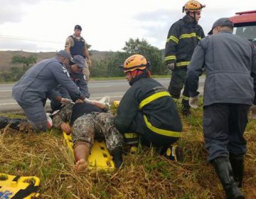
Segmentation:
[[(75, 55), (72, 62), (73, 63), (67, 66), (70, 79), (78, 86), (82, 97), (89, 98), (90, 93), (87, 87), (86, 77), (82, 74), (82, 69), (85, 68), (85, 58), (80, 55)], [(52, 90), (48, 96), (50, 99), (50, 107), (53, 111), (60, 109), (62, 105), (59, 97), (72, 99), (68, 90), (63, 86), (58, 85), (58, 87)]]

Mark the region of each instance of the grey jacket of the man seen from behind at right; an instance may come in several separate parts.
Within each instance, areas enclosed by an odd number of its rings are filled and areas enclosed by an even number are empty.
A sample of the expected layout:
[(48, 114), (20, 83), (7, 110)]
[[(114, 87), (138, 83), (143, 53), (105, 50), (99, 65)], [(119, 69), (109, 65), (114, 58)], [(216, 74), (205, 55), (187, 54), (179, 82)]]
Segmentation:
[(255, 48), (244, 38), (222, 31), (202, 39), (188, 65), (190, 96), (206, 70), (203, 106), (214, 103), (251, 105), (256, 89)]

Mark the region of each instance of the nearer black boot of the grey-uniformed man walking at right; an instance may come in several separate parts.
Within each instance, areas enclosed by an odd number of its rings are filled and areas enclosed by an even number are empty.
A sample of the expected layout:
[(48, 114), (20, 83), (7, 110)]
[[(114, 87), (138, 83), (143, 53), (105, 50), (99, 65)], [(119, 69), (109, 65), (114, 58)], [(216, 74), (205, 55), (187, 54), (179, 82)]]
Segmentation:
[(233, 171), (228, 157), (215, 158), (212, 163), (218, 177), (220, 178), (220, 182), (223, 185), (226, 197), (228, 199), (245, 198), (235, 183)]

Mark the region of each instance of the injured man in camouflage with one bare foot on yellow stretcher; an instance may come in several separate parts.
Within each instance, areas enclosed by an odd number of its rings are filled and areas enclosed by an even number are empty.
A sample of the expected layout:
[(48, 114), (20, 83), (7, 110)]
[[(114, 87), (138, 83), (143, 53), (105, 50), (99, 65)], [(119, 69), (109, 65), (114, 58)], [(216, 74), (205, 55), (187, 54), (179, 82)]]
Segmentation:
[(72, 133), (75, 168), (85, 171), (87, 158), (94, 143), (94, 138), (105, 138), (107, 149), (113, 156), (114, 166), (122, 165), (122, 134), (114, 127), (114, 116), (107, 112), (107, 106), (98, 102), (67, 104), (53, 117), (53, 126)]

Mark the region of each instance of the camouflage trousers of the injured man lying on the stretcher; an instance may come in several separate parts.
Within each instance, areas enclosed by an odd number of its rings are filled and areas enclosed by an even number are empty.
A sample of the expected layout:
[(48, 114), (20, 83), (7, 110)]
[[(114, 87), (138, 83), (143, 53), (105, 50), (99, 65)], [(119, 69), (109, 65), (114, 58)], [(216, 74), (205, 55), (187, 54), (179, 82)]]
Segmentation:
[(91, 148), (94, 139), (105, 139), (110, 153), (113, 149), (124, 145), (122, 134), (114, 127), (114, 115), (111, 113), (92, 113), (75, 119), (73, 124), (74, 146), (82, 141)]

